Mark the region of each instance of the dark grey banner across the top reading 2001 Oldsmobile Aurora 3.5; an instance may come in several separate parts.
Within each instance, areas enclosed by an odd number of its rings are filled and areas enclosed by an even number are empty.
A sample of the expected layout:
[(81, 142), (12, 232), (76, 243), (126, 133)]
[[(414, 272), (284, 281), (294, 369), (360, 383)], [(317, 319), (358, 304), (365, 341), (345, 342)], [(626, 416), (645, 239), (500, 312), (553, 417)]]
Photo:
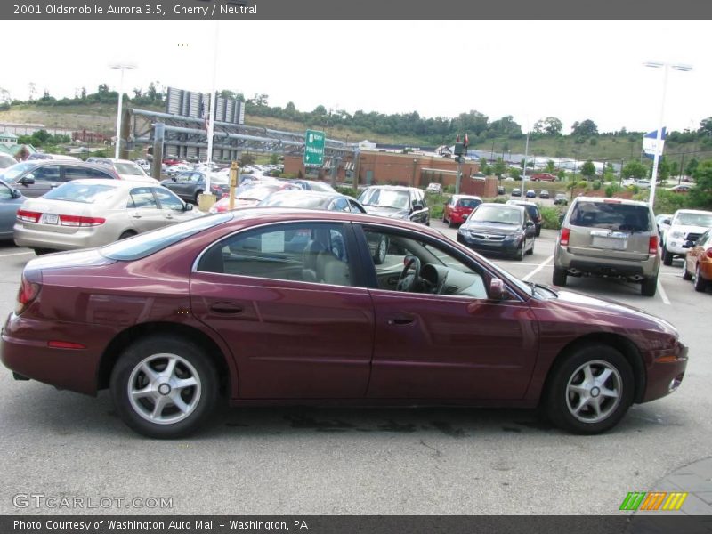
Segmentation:
[(10, 20), (708, 19), (700, 0), (10, 0)]

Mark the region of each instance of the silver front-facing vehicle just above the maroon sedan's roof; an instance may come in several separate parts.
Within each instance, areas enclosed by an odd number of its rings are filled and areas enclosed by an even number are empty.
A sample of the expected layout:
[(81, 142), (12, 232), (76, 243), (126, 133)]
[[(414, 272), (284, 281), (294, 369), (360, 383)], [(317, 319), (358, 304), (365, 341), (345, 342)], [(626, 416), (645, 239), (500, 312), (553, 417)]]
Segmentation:
[(430, 208), (425, 193), (417, 187), (372, 185), (359, 195), (368, 214), (430, 225)]

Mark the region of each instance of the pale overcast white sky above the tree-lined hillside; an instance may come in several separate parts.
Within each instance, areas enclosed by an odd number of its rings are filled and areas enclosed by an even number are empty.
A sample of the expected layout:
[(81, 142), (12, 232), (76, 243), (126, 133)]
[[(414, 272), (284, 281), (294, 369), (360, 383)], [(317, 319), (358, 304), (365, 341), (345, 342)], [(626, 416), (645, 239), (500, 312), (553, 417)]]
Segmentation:
[[(151, 81), (191, 91), (269, 95), (271, 106), (456, 117), (475, 109), (514, 116), (592, 119), (600, 132), (697, 129), (712, 116), (705, 20), (0, 20), (0, 88), (28, 85), (72, 97), (119, 87), (111, 62), (134, 62), (125, 93)], [(217, 47), (215, 36), (217, 35)], [(215, 59), (214, 51), (218, 50)], [(20, 53), (21, 52), (21, 53)], [(216, 65), (216, 69), (214, 66)]]

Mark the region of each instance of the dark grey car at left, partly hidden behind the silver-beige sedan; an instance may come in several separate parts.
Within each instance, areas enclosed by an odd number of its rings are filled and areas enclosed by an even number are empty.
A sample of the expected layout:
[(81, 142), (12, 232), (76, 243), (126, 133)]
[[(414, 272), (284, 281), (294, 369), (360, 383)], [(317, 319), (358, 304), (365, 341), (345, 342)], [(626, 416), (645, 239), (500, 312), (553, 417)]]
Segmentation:
[(118, 180), (118, 174), (107, 166), (70, 160), (23, 161), (3, 170), (0, 180), (20, 191), (22, 196), (41, 197), (62, 183), (80, 179)]

